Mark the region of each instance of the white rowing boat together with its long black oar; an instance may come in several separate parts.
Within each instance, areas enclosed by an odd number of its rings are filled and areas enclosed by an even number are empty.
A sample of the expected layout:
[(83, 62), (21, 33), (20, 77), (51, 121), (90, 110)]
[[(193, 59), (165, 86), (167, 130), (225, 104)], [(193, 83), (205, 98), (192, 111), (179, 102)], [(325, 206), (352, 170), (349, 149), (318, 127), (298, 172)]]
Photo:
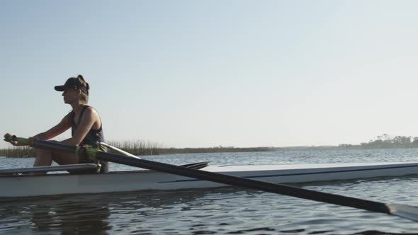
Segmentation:
[[(60, 195), (71, 193), (107, 193), (135, 190), (170, 190), (187, 188), (211, 188), (232, 185), (264, 192), (288, 195), (316, 202), (325, 202), (371, 212), (391, 214), (418, 222), (418, 207), (398, 203), (375, 202), (356, 197), (324, 193), (279, 183), (311, 182), (317, 180), (349, 180), (380, 176), (405, 176), (416, 174), (418, 163), (377, 163), (377, 164), (327, 164), (299, 166), (210, 166), (205, 163), (174, 166), (157, 161), (140, 159), (132, 154), (111, 154), (83, 146), (73, 147), (45, 140), (5, 135), (6, 142), (18, 142), (40, 149), (84, 154), (91, 160), (103, 160), (115, 164), (135, 166), (151, 171), (124, 171), (106, 174), (50, 174), (47, 176), (4, 176), (0, 187), (4, 189), (0, 199), (14, 200), (18, 197), (35, 195)], [(116, 148), (113, 148), (116, 149)], [(62, 166), (65, 167), (65, 166)], [(84, 166), (80, 166), (84, 167)], [(87, 167), (87, 166), (86, 166)], [(90, 166), (89, 166), (90, 167)], [(99, 168), (96, 168), (98, 172)], [(201, 169), (201, 170), (200, 170)], [(9, 169), (10, 170), (10, 169)], [(3, 174), (13, 174), (9, 170)], [(19, 170), (21, 171), (21, 170)], [(47, 171), (33, 169), (30, 171)], [(91, 168), (89, 168), (89, 172)], [(27, 171), (26, 171), (27, 172)], [(85, 171), (84, 171), (85, 173)], [(1, 172), (0, 172), (1, 174)], [(293, 180), (291, 180), (293, 179)], [(34, 193), (26, 193), (34, 192)]]

